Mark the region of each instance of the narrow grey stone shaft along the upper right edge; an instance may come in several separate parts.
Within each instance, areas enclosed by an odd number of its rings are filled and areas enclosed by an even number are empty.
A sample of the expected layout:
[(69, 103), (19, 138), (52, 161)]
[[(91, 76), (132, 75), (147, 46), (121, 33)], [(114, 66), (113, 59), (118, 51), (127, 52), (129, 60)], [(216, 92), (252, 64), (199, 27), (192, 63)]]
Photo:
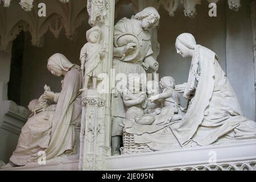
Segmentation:
[[(256, 96), (256, 2), (251, 3), (251, 24), (253, 28), (253, 53), (254, 53), (254, 72), (255, 72), (255, 96)], [(255, 100), (256, 103), (256, 100)], [(256, 113), (256, 112), (255, 112)]]

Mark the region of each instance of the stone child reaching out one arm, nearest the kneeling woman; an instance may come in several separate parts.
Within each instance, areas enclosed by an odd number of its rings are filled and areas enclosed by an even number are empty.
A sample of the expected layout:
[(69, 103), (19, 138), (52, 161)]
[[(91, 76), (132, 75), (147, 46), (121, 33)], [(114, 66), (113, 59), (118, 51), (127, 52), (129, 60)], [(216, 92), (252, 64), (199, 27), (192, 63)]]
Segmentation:
[(160, 88), (163, 93), (148, 98), (150, 101), (162, 100), (164, 107), (172, 107), (174, 110), (174, 117), (172, 121), (182, 119), (179, 93), (174, 89), (175, 80), (171, 76), (163, 77), (159, 82)]

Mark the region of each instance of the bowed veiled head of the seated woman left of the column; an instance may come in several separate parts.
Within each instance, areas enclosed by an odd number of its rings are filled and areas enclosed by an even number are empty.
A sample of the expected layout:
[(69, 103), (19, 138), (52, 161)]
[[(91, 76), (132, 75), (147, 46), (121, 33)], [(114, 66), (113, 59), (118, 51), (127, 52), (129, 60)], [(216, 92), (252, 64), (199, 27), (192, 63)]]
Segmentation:
[(48, 59), (47, 69), (52, 75), (60, 77), (65, 76), (65, 73), (74, 66), (67, 57), (61, 53), (55, 53)]

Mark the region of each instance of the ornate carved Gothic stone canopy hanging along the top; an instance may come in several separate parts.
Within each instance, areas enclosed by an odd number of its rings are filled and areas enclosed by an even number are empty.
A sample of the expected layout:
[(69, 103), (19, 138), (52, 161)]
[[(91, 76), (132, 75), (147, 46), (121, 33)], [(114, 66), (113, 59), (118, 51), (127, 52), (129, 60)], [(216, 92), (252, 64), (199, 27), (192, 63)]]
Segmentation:
[[(209, 3), (218, 1), (208, 0)], [(241, 7), (241, 0), (226, 1), (232, 10), (238, 11)], [(11, 0), (0, 0), (0, 9), (9, 7), (6, 11), (0, 11), (0, 51), (6, 51), (20, 31), (30, 32), (32, 45), (37, 47), (43, 46), (43, 36), (48, 30), (55, 38), (58, 38), (60, 31), (64, 28), (68, 39), (76, 39), (75, 30), (88, 18), (87, 14), (89, 14), (89, 24), (94, 26), (96, 23), (104, 21), (106, 10), (109, 9), (107, 0), (53, 0), (47, 2), (47, 16), (38, 18), (36, 2), (34, 0), (19, 0), (18, 3)], [(184, 6), (184, 15), (193, 18), (196, 15), (196, 6), (200, 5), (201, 0), (115, 0), (115, 9), (118, 11), (118, 6), (127, 2), (133, 4), (135, 11), (140, 11), (147, 6), (153, 6), (156, 9), (163, 6), (170, 16), (175, 15), (175, 11), (181, 3)], [(80, 6), (75, 8), (72, 6), (74, 3), (79, 3)], [(24, 11), (19, 10), (17, 6), (21, 6)], [(60, 6), (60, 8), (53, 9), (52, 7), (55, 6)], [(17, 16), (11, 15), (14, 9), (16, 13), (20, 14), (20, 18), (17, 19)], [(8, 19), (8, 22), (5, 19)]]

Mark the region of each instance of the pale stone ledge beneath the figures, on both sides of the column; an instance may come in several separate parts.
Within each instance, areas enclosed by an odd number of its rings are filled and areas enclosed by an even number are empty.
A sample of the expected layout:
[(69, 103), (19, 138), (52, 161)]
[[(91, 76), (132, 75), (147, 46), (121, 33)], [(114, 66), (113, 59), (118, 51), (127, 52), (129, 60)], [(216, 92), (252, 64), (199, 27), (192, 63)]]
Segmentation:
[[(62, 162), (47, 163), (46, 165), (30, 165), (2, 170), (77, 171), (79, 170), (78, 164), (79, 160), (65, 159)], [(256, 171), (256, 141), (225, 146), (193, 147), (176, 151), (112, 156), (106, 158), (106, 170)]]

